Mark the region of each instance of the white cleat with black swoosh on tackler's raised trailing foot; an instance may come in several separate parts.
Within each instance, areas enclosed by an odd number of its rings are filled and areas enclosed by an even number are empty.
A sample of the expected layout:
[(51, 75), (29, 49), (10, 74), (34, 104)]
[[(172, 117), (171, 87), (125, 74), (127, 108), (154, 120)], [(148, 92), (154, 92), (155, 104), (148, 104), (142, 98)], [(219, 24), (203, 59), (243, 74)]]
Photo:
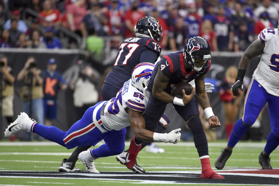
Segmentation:
[(21, 112), (19, 116), (17, 116), (17, 119), (11, 123), (8, 128), (6, 128), (5, 137), (8, 138), (12, 134), (15, 134), (16, 132), (26, 130), (30, 132), (31, 126), (33, 123), (35, 123), (35, 120), (31, 120), (29, 116), (25, 112)]

